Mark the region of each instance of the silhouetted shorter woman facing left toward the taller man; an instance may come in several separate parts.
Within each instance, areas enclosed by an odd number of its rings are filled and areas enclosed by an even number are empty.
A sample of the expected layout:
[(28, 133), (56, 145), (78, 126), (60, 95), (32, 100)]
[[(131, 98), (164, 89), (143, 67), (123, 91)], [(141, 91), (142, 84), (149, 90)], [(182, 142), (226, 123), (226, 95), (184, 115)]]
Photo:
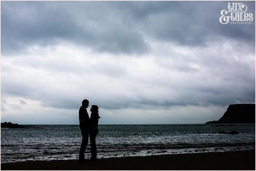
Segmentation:
[(98, 122), (99, 122), (99, 108), (97, 105), (91, 106), (91, 116), (90, 116), (90, 143), (91, 143), (91, 160), (96, 160), (97, 158), (97, 149), (96, 149), (96, 135), (98, 131)]

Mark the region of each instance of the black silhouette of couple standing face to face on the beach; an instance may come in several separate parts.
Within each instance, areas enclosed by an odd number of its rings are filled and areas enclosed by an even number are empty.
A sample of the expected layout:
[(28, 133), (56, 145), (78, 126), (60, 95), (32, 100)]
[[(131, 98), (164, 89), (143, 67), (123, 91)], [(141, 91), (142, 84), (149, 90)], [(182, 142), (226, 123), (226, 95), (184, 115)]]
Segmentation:
[(84, 152), (85, 148), (88, 145), (88, 139), (90, 137), (91, 144), (91, 158), (90, 160), (95, 161), (97, 158), (97, 149), (96, 149), (96, 135), (98, 131), (98, 122), (99, 122), (99, 108), (97, 105), (91, 106), (91, 116), (87, 113), (86, 108), (89, 106), (89, 101), (84, 99), (82, 101), (82, 106), (79, 109), (79, 125), (82, 134), (82, 143), (79, 151), (79, 162), (84, 162)]

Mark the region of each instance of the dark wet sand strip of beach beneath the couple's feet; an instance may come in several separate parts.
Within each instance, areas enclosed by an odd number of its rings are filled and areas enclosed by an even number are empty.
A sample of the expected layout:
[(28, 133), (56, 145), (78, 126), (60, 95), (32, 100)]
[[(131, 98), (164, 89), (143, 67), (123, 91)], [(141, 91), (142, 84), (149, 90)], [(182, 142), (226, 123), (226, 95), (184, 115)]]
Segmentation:
[(1, 164), (1, 170), (255, 170), (255, 151)]

